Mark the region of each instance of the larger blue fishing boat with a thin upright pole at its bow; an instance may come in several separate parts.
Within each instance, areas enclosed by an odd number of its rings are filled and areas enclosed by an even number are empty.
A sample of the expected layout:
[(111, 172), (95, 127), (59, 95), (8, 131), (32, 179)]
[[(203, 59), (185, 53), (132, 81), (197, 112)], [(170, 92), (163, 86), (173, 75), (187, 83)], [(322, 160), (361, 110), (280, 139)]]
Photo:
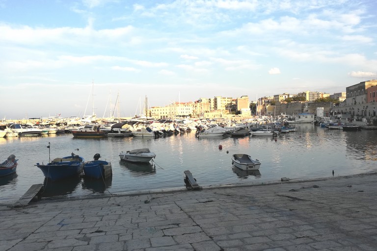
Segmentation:
[(84, 158), (72, 152), (71, 156), (55, 158), (50, 163), (44, 165), (37, 163), (46, 178), (51, 180), (75, 177), (82, 173)]

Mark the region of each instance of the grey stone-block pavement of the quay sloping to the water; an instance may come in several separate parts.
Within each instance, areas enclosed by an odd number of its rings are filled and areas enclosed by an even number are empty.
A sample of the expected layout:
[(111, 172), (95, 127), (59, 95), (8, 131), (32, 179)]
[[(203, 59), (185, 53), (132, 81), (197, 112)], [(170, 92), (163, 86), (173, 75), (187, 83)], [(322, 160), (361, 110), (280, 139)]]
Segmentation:
[(0, 204), (0, 250), (376, 251), (376, 179)]

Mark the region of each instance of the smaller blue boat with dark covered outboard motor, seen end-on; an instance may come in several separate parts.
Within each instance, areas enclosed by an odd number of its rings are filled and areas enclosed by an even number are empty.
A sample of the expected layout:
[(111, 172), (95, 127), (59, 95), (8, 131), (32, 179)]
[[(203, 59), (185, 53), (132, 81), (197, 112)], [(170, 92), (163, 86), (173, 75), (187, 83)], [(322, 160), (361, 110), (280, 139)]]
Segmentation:
[(112, 175), (111, 162), (99, 160), (99, 158), (101, 158), (101, 155), (96, 153), (93, 157), (94, 160), (85, 162), (85, 176), (105, 179)]

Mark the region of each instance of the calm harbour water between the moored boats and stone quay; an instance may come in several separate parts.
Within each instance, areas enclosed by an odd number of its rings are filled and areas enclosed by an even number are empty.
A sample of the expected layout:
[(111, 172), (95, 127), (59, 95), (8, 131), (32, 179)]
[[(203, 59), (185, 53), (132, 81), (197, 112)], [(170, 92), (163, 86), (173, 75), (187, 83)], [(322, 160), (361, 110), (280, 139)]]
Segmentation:
[[(298, 131), (272, 137), (202, 138), (194, 132), (166, 138), (138, 137), (76, 139), (72, 134), (42, 137), (1, 138), (1, 161), (10, 154), (19, 159), (17, 174), (0, 178), (0, 203), (18, 200), (32, 184), (44, 183), (43, 197), (78, 197), (98, 193), (184, 188), (184, 171), (190, 170), (201, 186), (260, 184), (290, 179), (347, 176), (376, 171), (377, 131), (346, 132), (311, 124), (296, 125)], [(68, 156), (71, 152), (86, 161), (101, 153), (111, 161), (112, 179), (73, 178), (44, 180), (37, 162)], [(222, 150), (218, 146), (222, 145)], [(121, 162), (120, 151), (149, 148), (157, 154), (155, 168)], [(228, 151), (228, 153), (227, 153)], [(262, 162), (258, 173), (245, 174), (232, 168), (232, 154), (247, 153)]]

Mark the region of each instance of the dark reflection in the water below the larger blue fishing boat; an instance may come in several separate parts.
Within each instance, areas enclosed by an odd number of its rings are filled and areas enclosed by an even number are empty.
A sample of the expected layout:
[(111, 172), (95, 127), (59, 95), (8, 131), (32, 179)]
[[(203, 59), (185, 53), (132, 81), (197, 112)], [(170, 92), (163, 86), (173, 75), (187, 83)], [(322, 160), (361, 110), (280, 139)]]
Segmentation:
[(45, 177), (43, 182), (44, 190), (41, 195), (43, 198), (67, 197), (67, 195), (72, 194), (75, 191), (80, 181), (80, 177), (71, 177), (54, 181)]

